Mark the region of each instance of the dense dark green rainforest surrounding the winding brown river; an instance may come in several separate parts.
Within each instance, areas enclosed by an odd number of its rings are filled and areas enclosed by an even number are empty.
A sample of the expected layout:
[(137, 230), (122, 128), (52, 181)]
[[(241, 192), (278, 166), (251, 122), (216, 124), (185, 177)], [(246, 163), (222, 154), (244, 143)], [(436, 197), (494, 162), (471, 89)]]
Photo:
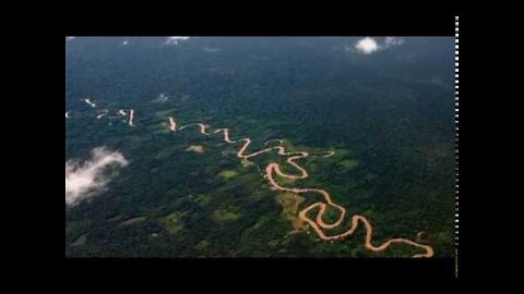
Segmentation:
[[(421, 241), (453, 255), (453, 38), (406, 37), (373, 53), (353, 37), (78, 37), (66, 40), (66, 161), (92, 149), (129, 164), (93, 197), (66, 207), (68, 257), (409, 257), (402, 244), (372, 253), (365, 230), (336, 242), (296, 232), (297, 211), (318, 200), (267, 186), (239, 146), (198, 127), (229, 127), (250, 151), (282, 138), (309, 157), (310, 176), (286, 186), (321, 187), (350, 216), (373, 224), (373, 243)], [(378, 38), (379, 41), (383, 41)], [(134, 126), (99, 113), (134, 109)], [(164, 98), (164, 99), (159, 99)], [(199, 146), (200, 149), (191, 147)], [(195, 151), (200, 150), (200, 151)], [(330, 215), (330, 213), (327, 213)], [(331, 211), (336, 215), (336, 211)], [(330, 216), (327, 216), (330, 217)], [(336, 216), (331, 216), (336, 218)]]

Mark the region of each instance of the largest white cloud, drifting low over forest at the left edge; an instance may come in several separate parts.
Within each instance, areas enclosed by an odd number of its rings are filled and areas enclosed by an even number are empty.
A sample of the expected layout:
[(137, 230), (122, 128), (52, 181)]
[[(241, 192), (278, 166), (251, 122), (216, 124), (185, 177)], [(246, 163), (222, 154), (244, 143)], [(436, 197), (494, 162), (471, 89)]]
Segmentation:
[(66, 205), (74, 206), (94, 196), (109, 182), (104, 172), (110, 167), (126, 167), (128, 161), (122, 154), (109, 151), (105, 147), (92, 150), (92, 159), (83, 164), (74, 160), (66, 162)]

